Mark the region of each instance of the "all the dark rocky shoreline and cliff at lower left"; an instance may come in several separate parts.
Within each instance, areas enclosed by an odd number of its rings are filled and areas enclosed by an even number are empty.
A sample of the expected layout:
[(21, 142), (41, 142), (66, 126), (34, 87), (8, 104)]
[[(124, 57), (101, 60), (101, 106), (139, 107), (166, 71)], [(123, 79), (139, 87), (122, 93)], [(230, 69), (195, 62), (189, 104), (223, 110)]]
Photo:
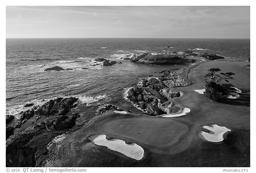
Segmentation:
[[(15, 126), (6, 128), (6, 166), (8, 167), (35, 167), (41, 166), (48, 156), (46, 145), (56, 136), (77, 130), (76, 118), (78, 113), (68, 112), (76, 104), (78, 98), (56, 98), (42, 106), (20, 112), (20, 119)], [(30, 118), (36, 116), (35, 122), (45, 117), (35, 125), (19, 130)], [(10, 123), (10, 116), (6, 116), (6, 123)], [(18, 130), (14, 133), (14, 130)], [(68, 130), (68, 131), (67, 131)]]

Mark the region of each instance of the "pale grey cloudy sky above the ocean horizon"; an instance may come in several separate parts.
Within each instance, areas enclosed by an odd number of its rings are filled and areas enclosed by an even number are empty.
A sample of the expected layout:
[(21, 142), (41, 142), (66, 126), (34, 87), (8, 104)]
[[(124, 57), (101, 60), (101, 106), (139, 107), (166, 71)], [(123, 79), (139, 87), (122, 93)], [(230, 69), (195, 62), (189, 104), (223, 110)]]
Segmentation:
[(250, 7), (6, 7), (6, 38), (87, 37), (250, 38)]

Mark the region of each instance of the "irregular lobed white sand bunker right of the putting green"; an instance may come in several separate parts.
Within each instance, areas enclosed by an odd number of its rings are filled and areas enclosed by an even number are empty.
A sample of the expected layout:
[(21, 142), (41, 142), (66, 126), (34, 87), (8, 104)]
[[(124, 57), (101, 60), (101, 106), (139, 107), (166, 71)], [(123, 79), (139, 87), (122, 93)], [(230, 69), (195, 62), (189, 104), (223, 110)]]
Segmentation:
[(212, 124), (212, 126), (203, 126), (204, 129), (210, 130), (210, 133), (201, 132), (202, 137), (204, 140), (209, 142), (221, 142), (224, 140), (223, 134), (231, 131), (230, 129), (224, 126), (218, 126), (216, 124)]

